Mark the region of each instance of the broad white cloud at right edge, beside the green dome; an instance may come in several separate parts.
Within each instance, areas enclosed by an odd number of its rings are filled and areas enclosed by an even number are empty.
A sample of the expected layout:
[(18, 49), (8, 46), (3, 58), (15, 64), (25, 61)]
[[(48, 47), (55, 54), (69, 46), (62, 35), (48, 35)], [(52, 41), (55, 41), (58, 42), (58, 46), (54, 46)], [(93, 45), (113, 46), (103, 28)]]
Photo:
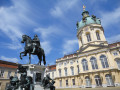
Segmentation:
[(120, 22), (120, 7), (111, 12), (101, 12), (102, 25), (108, 27)]

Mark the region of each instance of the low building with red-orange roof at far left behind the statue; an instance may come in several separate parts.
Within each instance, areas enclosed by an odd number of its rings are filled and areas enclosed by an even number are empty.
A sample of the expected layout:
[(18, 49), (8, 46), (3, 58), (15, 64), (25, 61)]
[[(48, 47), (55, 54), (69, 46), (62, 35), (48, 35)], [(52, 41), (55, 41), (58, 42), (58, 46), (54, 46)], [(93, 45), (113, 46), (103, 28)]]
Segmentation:
[(10, 76), (18, 76), (18, 64), (0, 60), (0, 90), (5, 90), (10, 82)]

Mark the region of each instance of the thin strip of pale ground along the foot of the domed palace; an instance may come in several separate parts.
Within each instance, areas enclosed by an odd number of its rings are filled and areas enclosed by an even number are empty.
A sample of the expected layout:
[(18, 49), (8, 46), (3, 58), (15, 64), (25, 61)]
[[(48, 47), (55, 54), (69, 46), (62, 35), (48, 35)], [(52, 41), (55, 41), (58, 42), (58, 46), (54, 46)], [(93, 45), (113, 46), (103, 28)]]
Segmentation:
[(120, 90), (120, 87), (106, 87), (106, 88), (66, 88), (56, 90)]

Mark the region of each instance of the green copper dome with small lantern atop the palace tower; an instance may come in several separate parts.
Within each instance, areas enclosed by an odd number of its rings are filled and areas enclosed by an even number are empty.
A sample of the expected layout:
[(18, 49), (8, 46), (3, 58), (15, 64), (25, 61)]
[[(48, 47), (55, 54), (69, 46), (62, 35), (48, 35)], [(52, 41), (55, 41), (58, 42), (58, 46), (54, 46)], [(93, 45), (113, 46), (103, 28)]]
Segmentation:
[(89, 16), (89, 12), (88, 11), (84, 11), (82, 13), (82, 20), (80, 22), (77, 22), (77, 30), (79, 30), (80, 28), (84, 27), (85, 25), (89, 25), (89, 24), (101, 24), (101, 21), (99, 18), (96, 18), (96, 16), (92, 15)]

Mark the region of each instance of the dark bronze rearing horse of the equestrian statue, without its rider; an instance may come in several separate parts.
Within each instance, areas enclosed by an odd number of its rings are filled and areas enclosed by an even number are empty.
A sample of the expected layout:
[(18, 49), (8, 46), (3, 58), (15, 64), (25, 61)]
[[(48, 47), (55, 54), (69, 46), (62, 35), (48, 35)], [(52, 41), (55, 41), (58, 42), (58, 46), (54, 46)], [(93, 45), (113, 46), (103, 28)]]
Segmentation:
[(34, 47), (33, 40), (29, 36), (23, 35), (21, 43), (25, 43), (25, 47), (24, 47), (25, 51), (20, 53), (20, 59), (22, 59), (23, 56), (27, 56), (27, 53), (28, 53), (29, 54), (29, 64), (31, 63), (31, 54), (38, 56), (38, 59), (39, 59), (38, 64), (39, 65), (41, 65), (42, 59), (43, 59), (44, 65), (46, 64), (44, 50), (41, 47), (39, 47), (35, 50), (35, 52), (33, 52), (33, 47)]

